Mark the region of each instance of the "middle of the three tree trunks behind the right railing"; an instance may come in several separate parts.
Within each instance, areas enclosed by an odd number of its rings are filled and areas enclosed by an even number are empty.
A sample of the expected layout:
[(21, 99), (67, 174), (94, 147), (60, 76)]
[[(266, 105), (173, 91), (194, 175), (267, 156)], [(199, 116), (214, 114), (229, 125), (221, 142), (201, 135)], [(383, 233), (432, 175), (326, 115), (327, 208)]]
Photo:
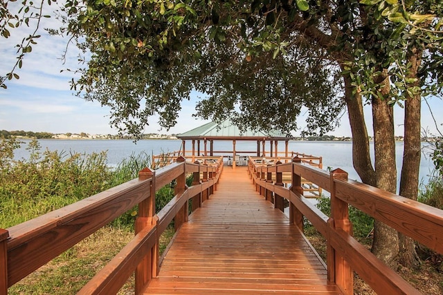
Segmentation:
[[(389, 78), (383, 80), (383, 95), (389, 93)], [(379, 189), (397, 192), (397, 167), (395, 163), (395, 135), (393, 108), (386, 99), (372, 100), (372, 123), (374, 129), (375, 175)], [(372, 253), (392, 269), (397, 269), (399, 237), (397, 231), (374, 220)]]

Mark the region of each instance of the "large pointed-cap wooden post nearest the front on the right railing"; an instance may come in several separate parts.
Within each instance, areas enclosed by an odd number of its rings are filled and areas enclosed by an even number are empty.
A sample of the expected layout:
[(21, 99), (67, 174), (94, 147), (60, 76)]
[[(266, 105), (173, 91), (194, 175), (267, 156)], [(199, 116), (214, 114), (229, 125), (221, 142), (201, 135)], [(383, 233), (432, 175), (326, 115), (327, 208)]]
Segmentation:
[[(349, 210), (348, 204), (342, 200), (336, 198), (336, 185), (335, 180), (347, 180), (347, 172), (341, 169), (335, 169), (331, 171), (331, 218), (328, 220), (329, 227), (331, 230), (343, 229), (343, 231), (348, 234), (352, 234), (352, 225), (349, 220)], [(354, 294), (354, 276), (352, 274), (352, 269), (343, 258), (343, 256), (332, 249), (330, 245), (327, 245), (327, 254), (332, 254), (334, 259), (333, 267), (334, 271), (331, 272), (328, 277), (330, 277), (336, 285), (341, 289), (344, 294), (352, 295)], [(328, 259), (328, 263), (329, 263)], [(329, 272), (329, 265), (328, 265)]]

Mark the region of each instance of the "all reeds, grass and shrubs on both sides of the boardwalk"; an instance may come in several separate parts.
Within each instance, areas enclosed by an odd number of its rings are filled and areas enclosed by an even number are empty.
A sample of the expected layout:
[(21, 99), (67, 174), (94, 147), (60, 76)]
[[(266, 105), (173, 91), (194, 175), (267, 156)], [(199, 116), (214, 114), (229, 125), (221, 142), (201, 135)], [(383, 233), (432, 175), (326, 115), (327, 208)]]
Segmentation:
[[(115, 167), (107, 165), (107, 153), (80, 154), (66, 151), (42, 151), (37, 140), (29, 142), (28, 160), (14, 160), (14, 151), (21, 142), (15, 138), (0, 143), (0, 227), (8, 228), (30, 220), (44, 213), (71, 204), (95, 193), (136, 178), (138, 171), (150, 166), (150, 155), (131, 155)], [(438, 150), (437, 150), (438, 151)], [(433, 160), (439, 163), (441, 153), (435, 152)], [(443, 163), (443, 161), (442, 161)], [(422, 185), (419, 200), (443, 209), (442, 170), (437, 169), (428, 184)], [(188, 181), (192, 179), (188, 179)], [(156, 193), (158, 212), (172, 198), (173, 183)], [(318, 207), (327, 215), (330, 213), (329, 198), (320, 198)], [(123, 214), (107, 227), (82, 240), (55, 260), (41, 267), (10, 288), (10, 294), (73, 294), (92, 278), (120, 249), (134, 236), (134, 220), (137, 209)], [(354, 236), (363, 245), (370, 247), (372, 242), (373, 220), (359, 210), (350, 208), (350, 220)], [(323, 259), (325, 241), (314, 228), (307, 225), (305, 233)], [(161, 251), (174, 235), (168, 229), (161, 238)], [(443, 273), (442, 256), (432, 253), (421, 245), (417, 252), (422, 258), (421, 270), (429, 281), (441, 281)], [(420, 273), (403, 274), (412, 280), (421, 280)], [(358, 278), (356, 280), (359, 282)], [(436, 288), (443, 289), (443, 283)], [(120, 291), (132, 292), (134, 280)], [(364, 290), (365, 285), (359, 287)], [(358, 289), (357, 289), (358, 290)], [(356, 292), (357, 294), (359, 292)]]

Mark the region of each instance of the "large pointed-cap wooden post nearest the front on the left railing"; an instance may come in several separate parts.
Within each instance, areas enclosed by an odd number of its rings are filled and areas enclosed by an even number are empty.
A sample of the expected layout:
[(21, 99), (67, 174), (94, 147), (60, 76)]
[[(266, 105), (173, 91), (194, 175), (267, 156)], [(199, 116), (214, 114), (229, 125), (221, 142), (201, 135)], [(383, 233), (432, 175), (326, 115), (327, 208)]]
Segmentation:
[[(138, 204), (138, 217), (135, 223), (136, 234), (138, 234), (143, 228), (150, 227), (153, 224), (152, 217), (155, 214), (155, 172), (151, 171), (149, 168), (145, 168), (138, 173), (138, 180), (143, 181), (149, 180), (150, 178), (150, 191), (148, 192), (150, 196)], [(135, 272), (136, 294), (141, 294), (147, 283), (156, 276), (158, 245), (159, 243), (157, 240), (156, 245), (147, 251), (147, 254), (137, 265)]]

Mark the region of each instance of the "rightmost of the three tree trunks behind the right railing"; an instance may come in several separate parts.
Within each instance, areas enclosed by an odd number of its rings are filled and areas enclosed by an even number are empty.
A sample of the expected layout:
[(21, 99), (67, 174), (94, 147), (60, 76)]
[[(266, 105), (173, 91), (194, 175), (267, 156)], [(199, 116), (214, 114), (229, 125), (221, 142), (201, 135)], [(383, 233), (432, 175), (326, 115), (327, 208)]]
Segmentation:
[[(422, 52), (413, 50), (408, 57), (412, 65), (408, 77), (418, 78), (417, 71), (421, 63)], [(419, 86), (419, 82), (408, 86)], [(403, 166), (401, 167), (400, 196), (417, 200), (420, 153), (422, 148), (420, 117), (422, 102), (420, 93), (413, 93), (413, 96), (406, 93), (405, 114), (404, 114), (404, 152)], [(399, 233), (399, 263), (404, 267), (416, 267), (418, 265), (417, 253), (413, 239)]]

